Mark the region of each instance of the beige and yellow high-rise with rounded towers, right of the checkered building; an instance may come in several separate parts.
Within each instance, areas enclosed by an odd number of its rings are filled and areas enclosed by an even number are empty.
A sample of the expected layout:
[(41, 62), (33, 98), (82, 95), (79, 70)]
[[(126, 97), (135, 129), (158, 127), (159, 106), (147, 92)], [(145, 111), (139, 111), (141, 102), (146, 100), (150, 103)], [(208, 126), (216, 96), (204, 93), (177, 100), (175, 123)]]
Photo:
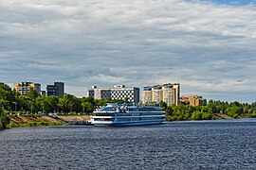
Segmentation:
[(164, 85), (147, 86), (143, 88), (142, 103), (165, 102), (168, 106), (178, 105), (180, 95), (180, 84), (168, 83)]

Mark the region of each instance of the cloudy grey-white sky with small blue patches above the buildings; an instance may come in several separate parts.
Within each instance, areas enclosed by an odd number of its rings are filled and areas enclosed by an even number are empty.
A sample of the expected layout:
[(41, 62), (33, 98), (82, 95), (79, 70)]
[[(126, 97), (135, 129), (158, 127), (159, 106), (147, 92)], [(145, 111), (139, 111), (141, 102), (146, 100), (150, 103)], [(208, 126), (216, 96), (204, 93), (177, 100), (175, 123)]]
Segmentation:
[(1, 0), (0, 81), (176, 83), (181, 95), (256, 101), (256, 2)]

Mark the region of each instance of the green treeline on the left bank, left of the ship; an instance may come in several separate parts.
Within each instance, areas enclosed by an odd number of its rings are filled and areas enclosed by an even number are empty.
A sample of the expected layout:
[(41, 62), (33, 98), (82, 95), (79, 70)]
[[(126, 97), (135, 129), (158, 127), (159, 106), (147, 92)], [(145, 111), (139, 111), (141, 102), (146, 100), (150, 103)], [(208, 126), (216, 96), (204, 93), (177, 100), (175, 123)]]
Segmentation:
[[(58, 112), (91, 113), (96, 107), (104, 106), (107, 102), (123, 102), (122, 100), (96, 100), (93, 97), (76, 97), (64, 94), (63, 98), (57, 96), (42, 96), (35, 91), (21, 95), (12, 91), (8, 85), (0, 85), (0, 108), (5, 114), (31, 114)], [(3, 113), (4, 114), (4, 113)]]

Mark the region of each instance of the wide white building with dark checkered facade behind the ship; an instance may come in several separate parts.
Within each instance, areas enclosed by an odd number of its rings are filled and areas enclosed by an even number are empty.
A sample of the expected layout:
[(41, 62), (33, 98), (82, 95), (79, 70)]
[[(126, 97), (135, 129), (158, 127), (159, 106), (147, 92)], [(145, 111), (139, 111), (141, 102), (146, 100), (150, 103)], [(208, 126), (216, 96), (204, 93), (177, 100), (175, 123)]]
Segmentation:
[(125, 87), (125, 85), (115, 85), (113, 88), (97, 88), (97, 86), (93, 86), (88, 90), (87, 95), (95, 99), (120, 99), (136, 104), (139, 102), (139, 88)]

